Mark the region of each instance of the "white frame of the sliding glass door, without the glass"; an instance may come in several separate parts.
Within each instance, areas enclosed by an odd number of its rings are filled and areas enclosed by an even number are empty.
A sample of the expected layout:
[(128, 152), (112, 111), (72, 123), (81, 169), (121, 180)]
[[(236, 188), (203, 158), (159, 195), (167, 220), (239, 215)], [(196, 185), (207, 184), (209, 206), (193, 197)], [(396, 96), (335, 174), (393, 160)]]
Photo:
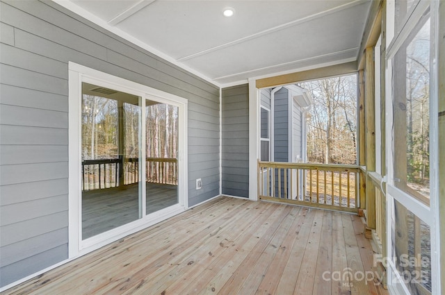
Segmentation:
[[(169, 94), (152, 87), (147, 87), (124, 78), (119, 78), (102, 71), (97, 71), (74, 62), (69, 62), (69, 178), (68, 178), (68, 255), (73, 259), (94, 251), (106, 244), (114, 242), (138, 230), (152, 226), (160, 221), (184, 212), (188, 208), (188, 143), (187, 143), (187, 110), (188, 100), (174, 94)], [(142, 217), (129, 224), (125, 224), (105, 233), (95, 235), (88, 239), (82, 239), (81, 219), (81, 98), (82, 83), (111, 88), (120, 92), (126, 92), (140, 97), (141, 119), (140, 125), (145, 126), (145, 101), (158, 101), (178, 107), (179, 116), (179, 138), (178, 138), (178, 161), (179, 161), (179, 202), (163, 210), (152, 214), (145, 214), (145, 198), (142, 201)], [(145, 157), (145, 135), (140, 136), (141, 155)], [(140, 165), (140, 176), (145, 175), (145, 165)], [(145, 182), (140, 182), (140, 194), (145, 194)]]

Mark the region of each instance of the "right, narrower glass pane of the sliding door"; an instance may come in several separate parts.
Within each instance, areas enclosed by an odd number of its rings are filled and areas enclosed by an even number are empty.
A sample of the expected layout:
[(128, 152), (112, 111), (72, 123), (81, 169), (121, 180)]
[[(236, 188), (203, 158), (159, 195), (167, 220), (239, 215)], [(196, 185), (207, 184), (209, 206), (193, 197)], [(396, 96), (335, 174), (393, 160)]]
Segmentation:
[(177, 106), (145, 101), (147, 214), (179, 203), (178, 115)]

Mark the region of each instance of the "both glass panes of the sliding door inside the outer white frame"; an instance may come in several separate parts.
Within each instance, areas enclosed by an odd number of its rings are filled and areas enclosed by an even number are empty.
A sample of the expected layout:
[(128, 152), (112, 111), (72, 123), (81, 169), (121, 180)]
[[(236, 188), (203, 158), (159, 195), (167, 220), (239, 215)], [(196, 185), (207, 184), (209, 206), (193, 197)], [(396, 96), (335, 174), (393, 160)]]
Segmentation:
[(178, 204), (178, 150), (178, 106), (82, 83), (82, 239)]

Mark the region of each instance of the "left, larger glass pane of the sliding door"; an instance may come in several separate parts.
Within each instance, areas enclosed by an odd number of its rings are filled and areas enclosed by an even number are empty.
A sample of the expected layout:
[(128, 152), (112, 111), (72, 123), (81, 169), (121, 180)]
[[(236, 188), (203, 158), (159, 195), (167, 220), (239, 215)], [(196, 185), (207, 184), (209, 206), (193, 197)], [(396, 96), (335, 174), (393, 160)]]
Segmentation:
[(82, 239), (142, 217), (138, 96), (82, 83)]

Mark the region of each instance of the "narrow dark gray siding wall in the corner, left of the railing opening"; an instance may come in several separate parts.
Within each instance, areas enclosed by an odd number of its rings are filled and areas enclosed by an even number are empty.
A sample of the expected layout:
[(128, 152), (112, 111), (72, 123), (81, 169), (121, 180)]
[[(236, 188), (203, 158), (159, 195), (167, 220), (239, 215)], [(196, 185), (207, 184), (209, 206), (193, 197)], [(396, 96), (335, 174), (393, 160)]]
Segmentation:
[(223, 89), (223, 194), (249, 197), (249, 87)]

